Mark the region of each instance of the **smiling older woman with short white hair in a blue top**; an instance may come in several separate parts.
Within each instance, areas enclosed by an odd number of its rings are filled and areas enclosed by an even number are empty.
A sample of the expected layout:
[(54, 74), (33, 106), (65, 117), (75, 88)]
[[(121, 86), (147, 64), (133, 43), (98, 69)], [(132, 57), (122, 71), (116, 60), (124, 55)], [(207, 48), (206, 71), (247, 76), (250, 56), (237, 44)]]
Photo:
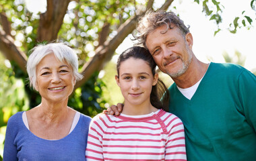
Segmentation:
[(9, 118), (3, 160), (86, 160), (91, 118), (67, 106), (78, 72), (77, 55), (64, 44), (34, 48), (27, 64), (40, 105)]

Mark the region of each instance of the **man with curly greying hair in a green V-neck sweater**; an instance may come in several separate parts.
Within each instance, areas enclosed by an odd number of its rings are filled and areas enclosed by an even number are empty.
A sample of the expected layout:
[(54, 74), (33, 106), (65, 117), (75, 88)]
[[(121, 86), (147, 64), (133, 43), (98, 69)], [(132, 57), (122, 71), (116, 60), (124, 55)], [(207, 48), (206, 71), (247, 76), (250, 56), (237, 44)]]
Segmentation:
[(139, 44), (174, 80), (169, 106), (185, 125), (187, 159), (256, 160), (256, 76), (236, 64), (199, 61), (189, 28), (174, 13), (148, 12), (137, 31)]

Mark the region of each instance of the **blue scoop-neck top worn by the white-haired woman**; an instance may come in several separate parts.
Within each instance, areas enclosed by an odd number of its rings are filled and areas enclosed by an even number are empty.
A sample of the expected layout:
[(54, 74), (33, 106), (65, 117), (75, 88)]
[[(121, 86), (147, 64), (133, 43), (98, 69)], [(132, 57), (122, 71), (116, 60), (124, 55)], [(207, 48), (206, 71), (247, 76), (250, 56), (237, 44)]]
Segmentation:
[(35, 136), (22, 121), (22, 113), (7, 123), (3, 161), (86, 160), (86, 144), (91, 118), (80, 114), (75, 129), (61, 140), (44, 140)]

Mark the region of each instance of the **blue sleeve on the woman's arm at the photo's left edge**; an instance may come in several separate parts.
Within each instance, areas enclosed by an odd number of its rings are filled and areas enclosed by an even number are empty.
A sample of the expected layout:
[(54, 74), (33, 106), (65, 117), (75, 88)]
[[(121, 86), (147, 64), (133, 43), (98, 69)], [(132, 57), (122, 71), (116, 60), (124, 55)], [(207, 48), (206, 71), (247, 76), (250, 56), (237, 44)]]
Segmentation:
[(5, 146), (3, 148), (3, 161), (15, 161), (17, 158), (17, 147), (14, 145), (15, 140), (15, 122), (10, 118), (7, 123), (5, 133)]

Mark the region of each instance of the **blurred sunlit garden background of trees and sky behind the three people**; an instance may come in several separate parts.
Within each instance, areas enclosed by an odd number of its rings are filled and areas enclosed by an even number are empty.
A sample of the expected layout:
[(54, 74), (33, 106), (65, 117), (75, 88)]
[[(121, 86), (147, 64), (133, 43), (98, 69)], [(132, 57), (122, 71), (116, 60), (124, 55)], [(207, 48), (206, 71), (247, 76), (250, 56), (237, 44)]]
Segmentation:
[[(116, 62), (135, 43), (139, 15), (148, 9), (177, 13), (190, 25), (199, 60), (233, 62), (255, 74), (255, 6), (256, 0), (0, 0), (0, 160), (9, 117), (40, 102), (26, 72), (37, 44), (64, 42), (77, 52), (84, 78), (69, 106), (93, 117), (123, 102)], [(173, 83), (166, 74), (160, 77), (167, 86)]]

